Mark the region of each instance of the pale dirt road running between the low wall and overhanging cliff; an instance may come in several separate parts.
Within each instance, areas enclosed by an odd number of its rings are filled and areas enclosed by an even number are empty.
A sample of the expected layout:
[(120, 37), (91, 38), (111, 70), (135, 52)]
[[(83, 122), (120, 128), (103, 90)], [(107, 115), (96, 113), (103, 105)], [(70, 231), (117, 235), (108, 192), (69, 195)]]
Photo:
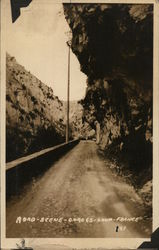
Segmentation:
[(140, 197), (111, 172), (95, 142), (81, 141), (8, 202), (7, 237), (149, 237), (143, 213)]

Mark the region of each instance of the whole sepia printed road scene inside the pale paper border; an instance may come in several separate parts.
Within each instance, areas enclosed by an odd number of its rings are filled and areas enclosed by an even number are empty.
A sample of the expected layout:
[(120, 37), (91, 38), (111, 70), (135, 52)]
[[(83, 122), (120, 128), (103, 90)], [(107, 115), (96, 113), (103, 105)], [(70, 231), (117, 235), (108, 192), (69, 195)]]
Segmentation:
[(6, 239), (151, 238), (154, 4), (5, 8)]

